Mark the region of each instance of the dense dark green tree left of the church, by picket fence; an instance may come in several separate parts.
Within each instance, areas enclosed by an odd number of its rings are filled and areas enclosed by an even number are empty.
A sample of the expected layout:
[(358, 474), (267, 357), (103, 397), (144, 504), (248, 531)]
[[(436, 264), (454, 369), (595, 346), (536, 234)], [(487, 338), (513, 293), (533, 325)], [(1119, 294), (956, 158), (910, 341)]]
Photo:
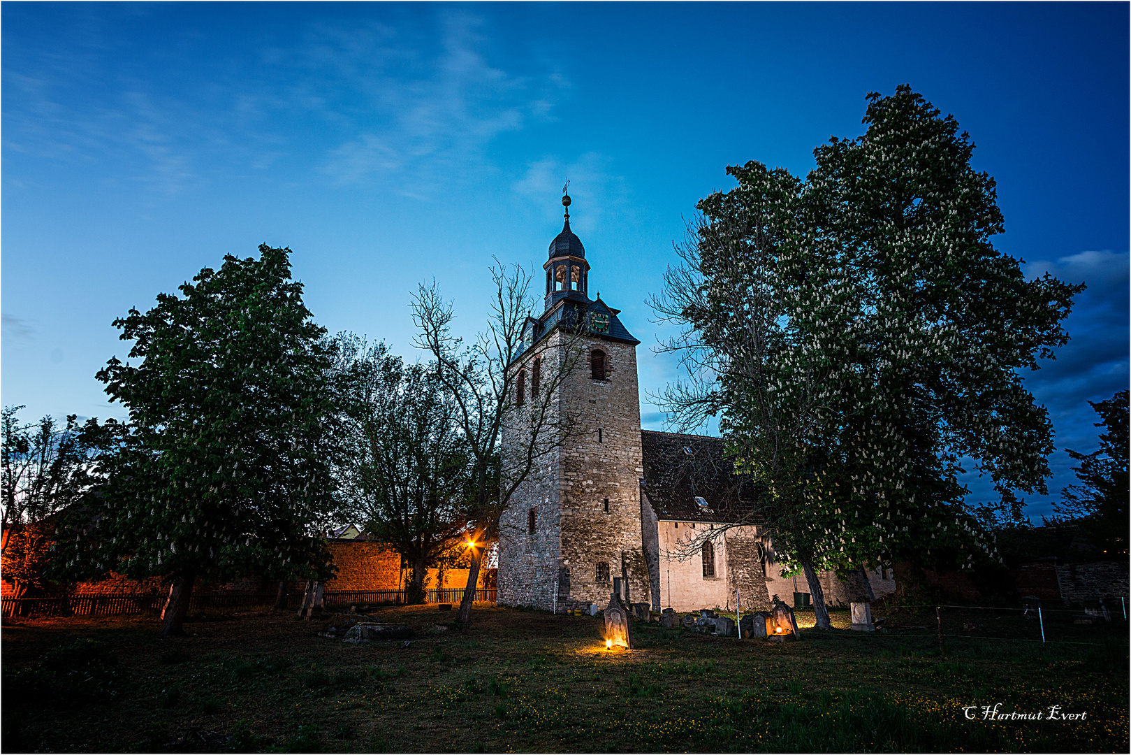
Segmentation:
[(137, 361), (113, 358), (97, 376), (129, 422), (107, 428), (105, 483), (71, 517), (57, 560), (167, 578), (165, 636), (181, 632), (197, 577), (313, 576), (329, 561), (330, 354), (290, 249), (259, 251), (115, 320)]

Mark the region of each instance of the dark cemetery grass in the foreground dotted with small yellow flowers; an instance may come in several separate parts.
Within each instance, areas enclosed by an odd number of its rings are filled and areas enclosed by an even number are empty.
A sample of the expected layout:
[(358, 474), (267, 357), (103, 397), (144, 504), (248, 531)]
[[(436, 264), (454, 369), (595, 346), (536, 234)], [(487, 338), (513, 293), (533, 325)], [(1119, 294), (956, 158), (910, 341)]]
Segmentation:
[[(961, 612), (949, 611), (940, 655), (933, 609), (916, 610), (889, 611), (904, 632), (803, 628), (793, 643), (636, 624), (633, 652), (605, 651), (599, 618), (489, 606), (470, 626), (442, 630), (452, 614), (434, 606), (373, 611), (416, 630), (407, 649), (321, 637), (337, 617), (301, 621), (291, 611), (208, 610), (190, 616), (185, 637), (164, 641), (155, 617), (16, 619), (0, 635), (2, 749), (1128, 750), (1121, 620), (1085, 627), (1062, 617), (1046, 629), (1088, 644), (1042, 645), (1026, 641), (1033, 623), (1005, 617), (996, 634), (964, 635)], [(836, 625), (847, 620), (834, 614)], [(798, 624), (811, 625), (812, 614), (800, 612)], [(68, 650), (52, 654), (59, 647)], [(51, 662), (92, 647), (102, 666), (33, 689)], [(1000, 713), (1061, 705), (1087, 718), (964, 715), (964, 706), (995, 704)], [(193, 727), (204, 740), (171, 748)]]

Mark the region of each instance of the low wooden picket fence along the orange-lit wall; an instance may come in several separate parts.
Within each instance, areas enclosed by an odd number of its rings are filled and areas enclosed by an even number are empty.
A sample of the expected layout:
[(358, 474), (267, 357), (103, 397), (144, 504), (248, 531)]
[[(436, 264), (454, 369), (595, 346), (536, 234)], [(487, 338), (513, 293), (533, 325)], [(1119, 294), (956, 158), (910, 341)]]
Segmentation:
[[(497, 590), (476, 590), (475, 600), (495, 602)], [(63, 598), (3, 598), (0, 599), (0, 617), (16, 616), (118, 616), (126, 614), (161, 612), (165, 606), (167, 593), (150, 594), (105, 594), (105, 595), (68, 595)], [(189, 600), (189, 610), (202, 608), (248, 608), (254, 606), (274, 606), (276, 593), (197, 593)], [(464, 598), (464, 590), (446, 589), (429, 590), (425, 597), (429, 603), (458, 603)], [(404, 606), (404, 590), (328, 590), (322, 594), (327, 608), (345, 606)], [(287, 594), (287, 607), (297, 608), (302, 602), (302, 592)]]

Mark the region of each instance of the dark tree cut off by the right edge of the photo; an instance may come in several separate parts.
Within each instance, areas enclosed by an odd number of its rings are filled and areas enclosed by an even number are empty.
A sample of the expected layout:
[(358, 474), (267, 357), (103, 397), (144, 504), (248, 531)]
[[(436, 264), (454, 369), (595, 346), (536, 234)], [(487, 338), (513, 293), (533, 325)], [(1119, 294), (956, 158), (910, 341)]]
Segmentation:
[(1056, 517), (1052, 523), (1078, 524), (1088, 540), (1108, 556), (1126, 556), (1128, 496), (1131, 495), (1128, 477), (1128, 392), (1120, 391), (1107, 401), (1089, 401), (1106, 432), (1099, 435), (1099, 448), (1090, 454), (1068, 449), (1069, 456), (1080, 462), (1076, 470), (1079, 484), (1071, 484), (1061, 492), (1061, 501), (1053, 504)]

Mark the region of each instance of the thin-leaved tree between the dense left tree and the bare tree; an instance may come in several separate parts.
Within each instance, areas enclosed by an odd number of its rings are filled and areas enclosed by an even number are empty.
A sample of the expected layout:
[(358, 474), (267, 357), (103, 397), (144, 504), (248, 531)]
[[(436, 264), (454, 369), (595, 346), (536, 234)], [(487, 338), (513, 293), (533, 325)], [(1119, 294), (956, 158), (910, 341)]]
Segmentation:
[(343, 515), (408, 563), (409, 602), (426, 569), (461, 544), (468, 449), (435, 364), (406, 366), (383, 343), (339, 336), (345, 453), (337, 465)]

